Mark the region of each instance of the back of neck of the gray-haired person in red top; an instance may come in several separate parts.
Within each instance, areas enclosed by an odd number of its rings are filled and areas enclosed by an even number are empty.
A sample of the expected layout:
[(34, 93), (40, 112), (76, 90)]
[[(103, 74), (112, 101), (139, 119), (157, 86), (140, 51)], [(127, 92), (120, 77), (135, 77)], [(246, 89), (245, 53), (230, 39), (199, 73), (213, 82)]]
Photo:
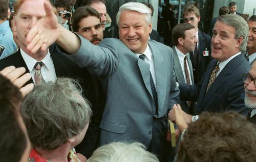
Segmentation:
[(68, 155), (72, 149), (71, 145), (66, 143), (54, 150), (42, 150), (39, 148), (34, 148), (42, 158), (50, 160), (51, 162), (63, 162), (68, 161)]

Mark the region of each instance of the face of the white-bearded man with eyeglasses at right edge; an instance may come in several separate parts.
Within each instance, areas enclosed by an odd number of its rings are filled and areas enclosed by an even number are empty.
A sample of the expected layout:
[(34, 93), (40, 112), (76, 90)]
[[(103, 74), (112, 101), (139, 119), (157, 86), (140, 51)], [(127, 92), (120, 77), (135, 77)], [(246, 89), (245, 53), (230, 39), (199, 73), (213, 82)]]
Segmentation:
[[(256, 78), (256, 62), (251, 66), (248, 74), (251, 78)], [(251, 81), (249, 84), (244, 83), (245, 88), (245, 105), (250, 108), (256, 108), (256, 86)]]

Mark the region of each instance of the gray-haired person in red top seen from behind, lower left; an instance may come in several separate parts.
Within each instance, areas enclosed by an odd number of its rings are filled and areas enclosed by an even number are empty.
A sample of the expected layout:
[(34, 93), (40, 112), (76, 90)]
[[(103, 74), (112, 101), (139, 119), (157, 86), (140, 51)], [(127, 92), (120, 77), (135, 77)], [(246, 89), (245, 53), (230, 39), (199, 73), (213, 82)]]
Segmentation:
[(20, 109), (33, 146), (29, 161), (82, 161), (73, 148), (83, 140), (92, 110), (78, 82), (58, 78), (38, 85)]

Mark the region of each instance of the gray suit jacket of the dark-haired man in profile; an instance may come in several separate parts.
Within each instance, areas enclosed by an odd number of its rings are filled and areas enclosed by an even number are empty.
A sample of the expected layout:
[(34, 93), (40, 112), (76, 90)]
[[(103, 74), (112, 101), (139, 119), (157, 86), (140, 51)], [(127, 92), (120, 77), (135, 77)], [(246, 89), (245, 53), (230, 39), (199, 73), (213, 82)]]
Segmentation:
[[(182, 72), (182, 67), (180, 64), (180, 60), (179, 60), (179, 56), (177, 54), (177, 51), (175, 50), (175, 46), (172, 48), (173, 52), (174, 52), (174, 73), (176, 76), (176, 82), (178, 83), (186, 83), (185, 79), (184, 79), (184, 75)], [(190, 71), (190, 78), (192, 81), (192, 84), (194, 84), (194, 76), (193, 76), (193, 66), (190, 60), (190, 55), (189, 53), (186, 54), (187, 57), (187, 63), (189, 66), (189, 71)], [(183, 66), (183, 65), (182, 65)], [(193, 107), (195, 106), (196, 102), (193, 102), (193, 104), (190, 105), (190, 107), (188, 107), (188, 104), (186, 101), (180, 101), (180, 105), (182, 107), (182, 110), (185, 111), (186, 113), (193, 113)]]

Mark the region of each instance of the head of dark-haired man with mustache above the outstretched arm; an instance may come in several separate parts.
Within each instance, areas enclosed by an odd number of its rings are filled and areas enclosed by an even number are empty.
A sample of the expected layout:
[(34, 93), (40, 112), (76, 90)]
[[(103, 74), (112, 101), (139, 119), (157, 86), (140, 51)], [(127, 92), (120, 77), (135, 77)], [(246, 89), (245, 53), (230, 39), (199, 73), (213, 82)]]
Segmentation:
[(100, 14), (90, 6), (79, 7), (72, 15), (72, 28), (82, 37), (98, 45), (103, 39)]

